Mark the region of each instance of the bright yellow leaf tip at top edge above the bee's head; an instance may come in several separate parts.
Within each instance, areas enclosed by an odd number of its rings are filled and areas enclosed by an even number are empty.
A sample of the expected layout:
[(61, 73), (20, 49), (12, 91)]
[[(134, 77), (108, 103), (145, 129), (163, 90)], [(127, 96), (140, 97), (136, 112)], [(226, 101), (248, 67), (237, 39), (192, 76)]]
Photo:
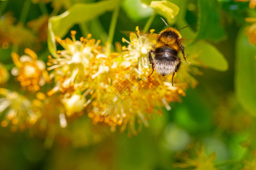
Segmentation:
[(156, 14), (164, 16), (168, 23), (172, 23), (172, 20), (177, 14), (179, 14), (180, 8), (169, 1), (152, 1), (150, 3)]

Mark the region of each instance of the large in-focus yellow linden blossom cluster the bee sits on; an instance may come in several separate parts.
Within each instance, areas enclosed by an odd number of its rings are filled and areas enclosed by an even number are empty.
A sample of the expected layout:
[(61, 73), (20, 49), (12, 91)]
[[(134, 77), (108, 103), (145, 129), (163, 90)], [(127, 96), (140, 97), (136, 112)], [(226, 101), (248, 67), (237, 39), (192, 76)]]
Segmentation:
[[(171, 101), (180, 101), (186, 83), (172, 87), (168, 76), (155, 74), (148, 78), (151, 66), (147, 54), (154, 41), (136, 29), (137, 34), (130, 33), (130, 41), (123, 39), (129, 45), (123, 46), (120, 54), (113, 52), (109, 56), (100, 41), (89, 39), (90, 34), (80, 41), (76, 40), (75, 31), (71, 32), (72, 40), (56, 37), (64, 50), (58, 50), (55, 58), (49, 57), (47, 65), (48, 70), (53, 70), (50, 76), (55, 87), (47, 94), (61, 92), (61, 103), (67, 111), (60, 116), (61, 126), (66, 126), (65, 116), (85, 108), (94, 123), (105, 122), (112, 130), (121, 126), (121, 131), (127, 128), (129, 134), (136, 134), (143, 125), (148, 125), (153, 113), (162, 114), (156, 107), (170, 110)], [(111, 103), (111, 114), (98, 108), (104, 99)]]

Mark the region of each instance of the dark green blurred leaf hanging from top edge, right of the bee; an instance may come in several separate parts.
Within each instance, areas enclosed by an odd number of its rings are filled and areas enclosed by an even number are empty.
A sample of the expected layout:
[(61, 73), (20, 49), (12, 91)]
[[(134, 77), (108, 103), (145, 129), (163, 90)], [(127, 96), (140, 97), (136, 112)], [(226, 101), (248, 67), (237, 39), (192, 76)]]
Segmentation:
[(225, 33), (220, 25), (216, 0), (198, 0), (197, 40), (220, 40)]

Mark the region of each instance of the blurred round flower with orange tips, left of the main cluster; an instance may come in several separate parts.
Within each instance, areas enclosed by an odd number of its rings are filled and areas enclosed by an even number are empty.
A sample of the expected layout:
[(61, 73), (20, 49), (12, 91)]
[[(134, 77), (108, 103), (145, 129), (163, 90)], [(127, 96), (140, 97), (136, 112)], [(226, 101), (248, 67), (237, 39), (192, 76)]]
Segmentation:
[(24, 52), (27, 55), (21, 57), (14, 52), (11, 53), (16, 65), (11, 70), (11, 74), (18, 76), (17, 79), (22, 87), (27, 87), (30, 91), (38, 91), (40, 86), (49, 81), (46, 64), (38, 60), (38, 56), (31, 49), (26, 48)]

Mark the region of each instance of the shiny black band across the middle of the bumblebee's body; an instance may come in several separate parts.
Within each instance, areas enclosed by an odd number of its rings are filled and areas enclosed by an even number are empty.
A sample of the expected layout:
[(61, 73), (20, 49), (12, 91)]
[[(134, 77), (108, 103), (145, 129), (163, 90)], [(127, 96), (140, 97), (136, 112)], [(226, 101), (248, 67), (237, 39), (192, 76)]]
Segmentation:
[(177, 58), (177, 50), (168, 46), (162, 46), (155, 49), (155, 59), (175, 61)]

